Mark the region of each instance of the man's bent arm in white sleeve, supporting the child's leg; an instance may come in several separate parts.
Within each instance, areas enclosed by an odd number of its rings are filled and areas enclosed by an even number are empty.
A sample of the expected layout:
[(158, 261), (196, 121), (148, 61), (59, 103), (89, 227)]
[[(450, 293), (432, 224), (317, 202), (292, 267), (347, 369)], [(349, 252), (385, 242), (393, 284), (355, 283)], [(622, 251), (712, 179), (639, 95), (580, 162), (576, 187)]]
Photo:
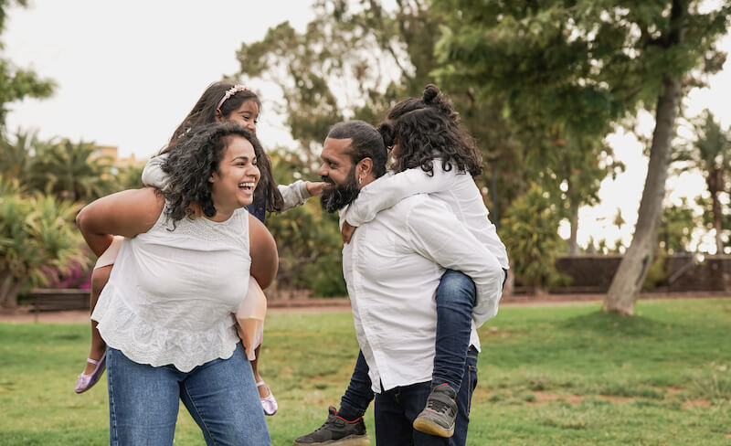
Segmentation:
[(424, 196), (409, 209), (406, 228), (407, 239), (420, 255), (442, 268), (462, 271), (474, 281), (477, 299), (472, 319), (478, 327), (497, 314), (503, 268), (446, 205)]

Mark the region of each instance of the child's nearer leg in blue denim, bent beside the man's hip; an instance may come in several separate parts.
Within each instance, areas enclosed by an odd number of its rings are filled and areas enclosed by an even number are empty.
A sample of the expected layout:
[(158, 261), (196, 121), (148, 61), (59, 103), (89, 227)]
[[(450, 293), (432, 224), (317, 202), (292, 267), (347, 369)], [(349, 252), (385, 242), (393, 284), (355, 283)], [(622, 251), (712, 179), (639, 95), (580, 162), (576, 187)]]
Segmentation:
[(431, 386), (447, 383), (460, 391), (470, 347), (474, 282), (461, 271), (447, 270), (437, 288), (437, 341)]

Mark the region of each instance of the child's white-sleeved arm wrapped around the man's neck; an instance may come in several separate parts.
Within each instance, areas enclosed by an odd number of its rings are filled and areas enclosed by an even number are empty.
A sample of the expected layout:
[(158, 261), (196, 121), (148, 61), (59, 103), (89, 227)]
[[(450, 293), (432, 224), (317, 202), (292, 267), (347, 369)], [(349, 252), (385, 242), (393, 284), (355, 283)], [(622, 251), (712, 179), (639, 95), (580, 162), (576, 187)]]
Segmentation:
[(441, 160), (434, 160), (434, 175), (429, 176), (420, 167), (408, 169), (395, 175), (384, 175), (361, 189), (358, 197), (347, 209), (345, 222), (358, 227), (373, 218), (383, 209), (392, 207), (407, 196), (449, 190), (457, 180), (456, 167), (449, 172), (441, 168)]

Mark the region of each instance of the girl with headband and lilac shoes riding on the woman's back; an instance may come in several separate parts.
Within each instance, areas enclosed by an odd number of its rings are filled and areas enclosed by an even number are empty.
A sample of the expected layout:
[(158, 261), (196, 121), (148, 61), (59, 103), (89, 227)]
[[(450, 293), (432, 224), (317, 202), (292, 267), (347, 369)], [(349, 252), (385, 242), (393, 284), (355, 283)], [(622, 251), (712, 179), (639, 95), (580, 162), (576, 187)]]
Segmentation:
[[(261, 109), (259, 96), (249, 88), (228, 80), (221, 80), (210, 84), (201, 94), (193, 109), (188, 112), (170, 138), (170, 142), (163, 148), (158, 156), (155, 156), (144, 166), (143, 183), (145, 186), (155, 186), (165, 189), (169, 183), (162, 165), (169, 154), (182, 138), (200, 125), (211, 122), (236, 122), (251, 133), (257, 133), (257, 122)], [(298, 180), (289, 186), (277, 186), (271, 175), (270, 159), (266, 154), (259, 158), (261, 169), (260, 185), (254, 192), (254, 201), (249, 205), (249, 212), (264, 223), (266, 212), (281, 212), (291, 207), (304, 203), (311, 196), (318, 196), (323, 191), (323, 183), (310, 183)], [(106, 250), (97, 260), (91, 275), (90, 308), (99, 298), (101, 290), (109, 280), (111, 268), (114, 263), (116, 252), (122, 243), (122, 238), (116, 238), (109, 250)], [(277, 412), (277, 400), (271, 393), (269, 386), (259, 375), (260, 347), (255, 352), (256, 356), (251, 366), (254, 370), (254, 377), (257, 379), (257, 386), (260, 392), (261, 405), (266, 415), (274, 415)], [(91, 346), (89, 359), (83, 373), (77, 378), (75, 391), (85, 392), (100, 379), (105, 366), (104, 341), (96, 329), (96, 324), (91, 322)]]

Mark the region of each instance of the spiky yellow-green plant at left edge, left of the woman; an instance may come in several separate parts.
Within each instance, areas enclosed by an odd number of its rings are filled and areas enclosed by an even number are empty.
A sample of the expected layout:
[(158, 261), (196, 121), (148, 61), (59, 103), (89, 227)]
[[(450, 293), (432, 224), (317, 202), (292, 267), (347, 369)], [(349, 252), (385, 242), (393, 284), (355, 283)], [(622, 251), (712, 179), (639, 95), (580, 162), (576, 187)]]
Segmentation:
[(52, 196), (21, 196), (2, 176), (0, 185), (0, 306), (14, 306), (18, 291), (52, 279), (48, 271), (63, 273), (88, 260), (73, 224), (77, 206)]

